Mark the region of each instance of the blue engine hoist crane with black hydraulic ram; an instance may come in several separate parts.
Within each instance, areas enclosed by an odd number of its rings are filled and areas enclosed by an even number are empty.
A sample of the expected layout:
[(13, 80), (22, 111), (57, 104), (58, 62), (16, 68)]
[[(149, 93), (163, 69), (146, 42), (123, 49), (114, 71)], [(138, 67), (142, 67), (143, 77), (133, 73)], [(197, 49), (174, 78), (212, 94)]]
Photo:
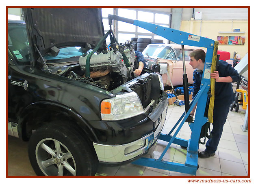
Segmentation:
[[(182, 57), (183, 72), (184, 72), (183, 86), (184, 86), (185, 112), (182, 114), (178, 122), (174, 125), (174, 127), (171, 129), (171, 131), (168, 134), (161, 133), (161, 135), (159, 136), (159, 140), (168, 142), (163, 153), (158, 159), (141, 157), (136, 161), (132, 162), (133, 164), (137, 164), (137, 165), (143, 165), (147, 167), (154, 167), (158, 169), (165, 169), (169, 171), (176, 171), (176, 172), (195, 175), (198, 169), (198, 164), (197, 164), (198, 141), (200, 138), (201, 128), (206, 122), (213, 123), (215, 79), (210, 78), (210, 73), (213, 73), (213, 71), (216, 68), (217, 50), (218, 50), (219, 42), (209, 38), (204, 38), (202, 36), (197, 36), (187, 32), (174, 30), (171, 28), (155, 25), (152, 23), (144, 22), (144, 21), (127, 19), (124, 17), (116, 16), (116, 15), (108, 15), (108, 22), (110, 26), (112, 25), (113, 20), (123, 21), (126, 23), (137, 25), (154, 34), (162, 36), (167, 40), (175, 42), (176, 44), (181, 44), (183, 55), (184, 55), (184, 45), (207, 48), (200, 91), (198, 91), (197, 95), (195, 96), (195, 98), (190, 104), (189, 104), (189, 93), (188, 93), (188, 80), (187, 80), (186, 67), (185, 67), (185, 57)], [(208, 96), (211, 96), (211, 97), (209, 102), (209, 108), (207, 110), (208, 113), (205, 113)], [(190, 116), (190, 112), (196, 104), (197, 104), (197, 111), (195, 113), (195, 119), (193, 120), (193, 118)], [(208, 116), (205, 116), (205, 114), (208, 114)], [(184, 125), (185, 122), (189, 124), (189, 127), (191, 129), (191, 138), (189, 140), (184, 140), (176, 137), (182, 125)], [(176, 127), (178, 128), (174, 132), (174, 129), (176, 129)], [(174, 132), (174, 135), (171, 135), (171, 133), (173, 132)], [(168, 162), (168, 161), (162, 160), (168, 148), (171, 146), (171, 144), (178, 144), (180, 146), (187, 147), (187, 157), (186, 157), (185, 164)]]

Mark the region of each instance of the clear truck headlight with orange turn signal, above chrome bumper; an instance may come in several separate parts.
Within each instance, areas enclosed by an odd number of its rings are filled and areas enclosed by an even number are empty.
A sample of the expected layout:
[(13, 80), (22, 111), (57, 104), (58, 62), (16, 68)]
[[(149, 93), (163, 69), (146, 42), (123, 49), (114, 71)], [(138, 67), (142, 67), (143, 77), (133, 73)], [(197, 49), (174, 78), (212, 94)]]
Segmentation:
[(141, 101), (134, 91), (104, 99), (100, 110), (102, 120), (122, 120), (144, 112)]

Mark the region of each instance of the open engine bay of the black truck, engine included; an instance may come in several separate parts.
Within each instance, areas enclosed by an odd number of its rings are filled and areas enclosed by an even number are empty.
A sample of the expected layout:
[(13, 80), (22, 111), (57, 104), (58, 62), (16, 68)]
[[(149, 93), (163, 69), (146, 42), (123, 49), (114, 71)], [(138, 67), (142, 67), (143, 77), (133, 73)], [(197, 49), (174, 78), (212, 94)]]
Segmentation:
[[(43, 70), (49, 68), (49, 71), (56, 75), (61, 75), (73, 80), (88, 83), (100, 87), (104, 90), (111, 91), (125, 82), (135, 78), (134, 70), (136, 69), (137, 60), (132, 44), (125, 44), (122, 47), (123, 53), (129, 60), (129, 67), (124, 63), (124, 57), (119, 51), (120, 48), (110, 48), (107, 51), (95, 53), (90, 59), (90, 76), (85, 76), (87, 54), (82, 54), (80, 57), (70, 57), (59, 59), (65, 62), (56, 62), (53, 57), (53, 63), (47, 60), (47, 66), (43, 66)], [(59, 54), (60, 55), (60, 54)]]

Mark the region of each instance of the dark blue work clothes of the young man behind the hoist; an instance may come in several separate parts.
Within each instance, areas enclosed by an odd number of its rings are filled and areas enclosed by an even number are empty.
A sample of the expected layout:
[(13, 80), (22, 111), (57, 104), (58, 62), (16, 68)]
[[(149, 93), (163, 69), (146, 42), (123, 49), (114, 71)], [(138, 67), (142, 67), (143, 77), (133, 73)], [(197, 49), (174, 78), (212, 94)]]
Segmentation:
[[(217, 68), (219, 72), (219, 77), (230, 76), (232, 82), (239, 81), (240, 76), (230, 64), (226, 61), (219, 60), (219, 66)], [(200, 90), (202, 80), (202, 71), (198, 72), (195, 70), (193, 72), (193, 95), (195, 97), (197, 92)], [(226, 122), (230, 104), (234, 101), (234, 93), (232, 89), (231, 82), (215, 82), (215, 100), (213, 108), (213, 130), (211, 131), (213, 137), (206, 142), (206, 151), (208, 153), (215, 153), (221, 134), (223, 131), (223, 126)]]

